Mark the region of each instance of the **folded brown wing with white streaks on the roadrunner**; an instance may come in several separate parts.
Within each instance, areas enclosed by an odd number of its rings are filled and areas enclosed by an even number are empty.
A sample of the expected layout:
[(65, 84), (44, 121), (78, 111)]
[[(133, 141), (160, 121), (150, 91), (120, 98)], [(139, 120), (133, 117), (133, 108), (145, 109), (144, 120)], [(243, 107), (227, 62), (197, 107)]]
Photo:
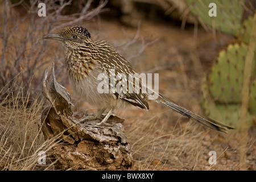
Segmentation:
[[(102, 72), (109, 76), (110, 93), (116, 99), (122, 99), (141, 109), (148, 110), (147, 94), (142, 93), (139, 75), (131, 67), (129, 61), (119, 55), (115, 49), (104, 41), (97, 44), (105, 46), (104, 53), (99, 53)], [(114, 91), (111, 89), (115, 89)]]

